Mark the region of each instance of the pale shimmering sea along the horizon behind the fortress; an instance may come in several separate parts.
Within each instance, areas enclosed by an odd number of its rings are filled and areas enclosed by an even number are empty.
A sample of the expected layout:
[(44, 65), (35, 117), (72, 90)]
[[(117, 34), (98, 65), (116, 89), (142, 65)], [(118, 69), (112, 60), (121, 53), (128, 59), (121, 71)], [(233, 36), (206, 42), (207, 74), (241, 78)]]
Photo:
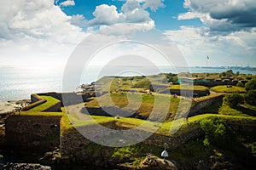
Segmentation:
[[(86, 71), (81, 73), (80, 82), (76, 84), (78, 87), (80, 84), (86, 84), (96, 81), (99, 75), (102, 76), (117, 76), (113, 75), (113, 71), (104, 71), (99, 74), (101, 71), (101, 66), (90, 66), (86, 68)], [(123, 66), (123, 70), (129, 70), (125, 72), (125, 76), (135, 76), (139, 75), (136, 73), (137, 67)], [(190, 67), (179, 69), (168, 67), (168, 66), (159, 66), (159, 71), (155, 72), (150, 67), (145, 67), (144, 70), (147, 72), (147, 75), (154, 75), (159, 73), (168, 73), (173, 72), (177, 73), (177, 70), (188, 71), (190, 73), (220, 73), (227, 71), (230, 68), (226, 67)], [(255, 75), (256, 71), (244, 68), (235, 68), (232, 69), (235, 73), (239, 71), (241, 74), (253, 74)], [(45, 92), (73, 92), (78, 90), (74, 86), (69, 89), (62, 89), (63, 84), (63, 74), (64, 69), (61, 68), (30, 68), (30, 67), (18, 67), (18, 66), (0, 66), (0, 102), (9, 101), (9, 100), (20, 100), (20, 99), (30, 99), (30, 95), (34, 93), (45, 93)], [(142, 72), (142, 71), (141, 71)], [(122, 76), (122, 75), (118, 75)], [(70, 81), (72, 82), (72, 80)]]

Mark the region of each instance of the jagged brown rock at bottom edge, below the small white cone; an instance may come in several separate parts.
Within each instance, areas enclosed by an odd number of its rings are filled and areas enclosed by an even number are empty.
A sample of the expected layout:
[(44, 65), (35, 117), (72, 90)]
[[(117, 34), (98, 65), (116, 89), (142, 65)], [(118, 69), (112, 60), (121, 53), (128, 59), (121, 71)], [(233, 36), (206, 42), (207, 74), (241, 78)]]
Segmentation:
[(153, 169), (170, 169), (177, 170), (177, 167), (172, 161), (160, 159), (157, 156), (147, 156), (140, 164), (141, 169), (153, 170)]

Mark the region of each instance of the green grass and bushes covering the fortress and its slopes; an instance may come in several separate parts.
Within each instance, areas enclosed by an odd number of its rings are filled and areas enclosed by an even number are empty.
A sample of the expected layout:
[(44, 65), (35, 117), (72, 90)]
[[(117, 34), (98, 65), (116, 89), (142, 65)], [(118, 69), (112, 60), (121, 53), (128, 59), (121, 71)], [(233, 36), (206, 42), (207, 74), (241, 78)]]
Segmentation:
[[(183, 73), (187, 74), (187, 73)], [(188, 73), (189, 74), (189, 73)], [(203, 76), (204, 75), (204, 76)], [(218, 74), (212, 73), (200, 73), (193, 75), (193, 77), (218, 77)], [(225, 71), (221, 77), (242, 77), (240, 73), (234, 74), (233, 71)], [(160, 74), (149, 77), (103, 77), (97, 81), (104, 85), (108, 84), (105, 88), (110, 87), (111, 93), (104, 94), (98, 98), (91, 98), (88, 102), (79, 105), (70, 105), (66, 108), (62, 108), (62, 112), (45, 113), (42, 112), (49, 108), (51, 105), (55, 105), (59, 100), (49, 96), (40, 96), (45, 99), (42, 105), (34, 107), (30, 111), (22, 111), (21, 115), (25, 116), (62, 116), (61, 117), (61, 134), (78, 133), (75, 127), (94, 126), (101, 124), (108, 127), (108, 125), (127, 128), (137, 127), (143, 131), (165, 135), (168, 137), (176, 138), (181, 135), (186, 135), (195, 132), (195, 130), (202, 130), (204, 136), (199, 139), (190, 140), (188, 143), (183, 144), (170, 152), (170, 156), (174, 160), (183, 160), (186, 163), (191, 163), (191, 166), (195, 166), (195, 162), (201, 160), (209, 160), (209, 156), (217, 156), (222, 160), (222, 166), (226, 166), (228, 163), (224, 160), (223, 156), (227, 156), (227, 153), (235, 153), (236, 156), (244, 156), (249, 153), (256, 155), (256, 138), (250, 138), (250, 133), (243, 134), (243, 132), (233, 132), (231, 126), (241, 127), (256, 127), (256, 90), (252, 79), (247, 82), (245, 88), (243, 84), (237, 84), (237, 86), (227, 87), (218, 86), (211, 88), (212, 91), (225, 94), (224, 102), (219, 100), (212, 105), (203, 108), (203, 114), (183, 118), (183, 114), (187, 113), (189, 106), (196, 105), (197, 102), (201, 102), (207, 99), (215, 98), (224, 94), (210, 94), (200, 99), (181, 99), (180, 97), (173, 98), (168, 94), (143, 94), (143, 93), (127, 93), (125, 90), (137, 90), (141, 91), (148, 89), (150, 84), (175, 82), (177, 75), (175, 74)], [(251, 77), (249, 77), (251, 78)], [(112, 81), (113, 80), (113, 81)], [(149, 80), (151, 82), (149, 82)], [(203, 86), (191, 86), (186, 85), (173, 85), (170, 89), (175, 90), (196, 90), (196, 91), (208, 91), (209, 89)], [(245, 90), (247, 89), (247, 91)], [(121, 91), (121, 92), (120, 92)], [(247, 93), (237, 94), (237, 93)], [(244, 96), (244, 97), (243, 97)], [(112, 102), (109, 102), (112, 101)], [(246, 101), (244, 103), (244, 101)], [(119, 119), (113, 116), (90, 116), (80, 112), (82, 107), (99, 109), (100, 107), (114, 107), (122, 108), (125, 111), (137, 111), (136, 117), (119, 116)], [(178, 108), (179, 107), (179, 108)], [(164, 111), (167, 109), (165, 116)], [(179, 118), (175, 116), (178, 116)], [(63, 116), (64, 113), (64, 116)], [(150, 116), (150, 117), (149, 117)], [(147, 119), (149, 120), (143, 120)], [(25, 117), (26, 118), (26, 117)], [(160, 120), (163, 123), (160, 123)], [(154, 132), (157, 130), (156, 132)], [(177, 133), (174, 133), (177, 132)], [(174, 133), (174, 134), (172, 134)], [(49, 138), (55, 138), (55, 136)], [(81, 146), (82, 147), (82, 146)], [(109, 159), (115, 159), (118, 161), (131, 161), (134, 166), (137, 166), (143, 157), (147, 153), (153, 153), (156, 156), (160, 156), (162, 147), (148, 145), (148, 144), (136, 144), (127, 146), (124, 148), (112, 148), (106, 149), (98, 144), (89, 144), (83, 146), (84, 150), (90, 152), (92, 156), (108, 156)], [(196, 153), (196, 154), (195, 154)], [(76, 153), (75, 153), (76, 154)], [(247, 155), (246, 155), (247, 156)], [(215, 163), (214, 161), (208, 161), (208, 163)]]

